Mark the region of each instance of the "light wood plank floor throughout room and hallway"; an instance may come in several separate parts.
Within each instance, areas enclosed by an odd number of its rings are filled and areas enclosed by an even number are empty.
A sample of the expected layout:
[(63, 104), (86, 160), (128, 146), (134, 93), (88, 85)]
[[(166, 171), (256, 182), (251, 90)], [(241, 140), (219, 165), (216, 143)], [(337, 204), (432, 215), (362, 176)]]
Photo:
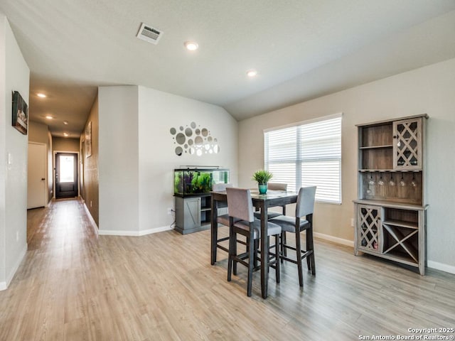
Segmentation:
[(0, 340), (359, 340), (455, 327), (454, 275), (422, 277), (316, 239), (303, 290), (284, 264), (267, 300), (259, 273), (247, 298), (246, 269), (228, 283), (209, 244), (209, 231), (97, 237), (77, 200), (31, 210), (28, 252), (0, 291)]

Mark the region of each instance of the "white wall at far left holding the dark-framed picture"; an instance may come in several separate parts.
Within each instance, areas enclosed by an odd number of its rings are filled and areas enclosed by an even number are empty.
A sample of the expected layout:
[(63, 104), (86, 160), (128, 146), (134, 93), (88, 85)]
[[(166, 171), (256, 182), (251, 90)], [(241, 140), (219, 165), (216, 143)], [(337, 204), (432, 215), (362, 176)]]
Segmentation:
[[(30, 70), (6, 17), (0, 13), (0, 290), (27, 250), (27, 136), (11, 126), (11, 91), (28, 101)], [(11, 164), (7, 164), (11, 155)], [(3, 166), (3, 165), (6, 165)]]

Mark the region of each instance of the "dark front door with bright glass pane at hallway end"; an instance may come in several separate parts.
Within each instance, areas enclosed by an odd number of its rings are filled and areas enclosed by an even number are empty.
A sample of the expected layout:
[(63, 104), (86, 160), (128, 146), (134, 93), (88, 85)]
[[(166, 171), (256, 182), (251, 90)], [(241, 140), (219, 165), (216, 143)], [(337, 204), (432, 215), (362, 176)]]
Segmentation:
[(55, 154), (55, 198), (77, 197), (77, 154)]

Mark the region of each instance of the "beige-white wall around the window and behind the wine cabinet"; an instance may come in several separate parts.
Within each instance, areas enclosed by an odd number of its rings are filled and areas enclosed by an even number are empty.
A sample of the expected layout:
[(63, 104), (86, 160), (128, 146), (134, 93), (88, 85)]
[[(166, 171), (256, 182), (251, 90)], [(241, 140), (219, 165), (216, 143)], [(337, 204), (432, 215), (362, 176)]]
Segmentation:
[(352, 200), (357, 197), (355, 124), (427, 113), (429, 266), (455, 273), (455, 59), (240, 121), (240, 185), (253, 186), (252, 173), (263, 167), (263, 129), (338, 112), (343, 112), (343, 203), (316, 203), (315, 231), (345, 244), (353, 240), (350, 218)]

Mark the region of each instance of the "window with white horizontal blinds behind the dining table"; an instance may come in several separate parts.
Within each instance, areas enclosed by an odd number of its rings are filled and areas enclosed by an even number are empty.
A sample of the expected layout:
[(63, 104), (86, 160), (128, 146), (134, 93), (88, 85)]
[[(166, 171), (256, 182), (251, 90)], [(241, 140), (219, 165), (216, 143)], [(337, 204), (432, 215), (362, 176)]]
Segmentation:
[(289, 190), (316, 185), (316, 200), (341, 203), (341, 114), (264, 132), (265, 169)]

